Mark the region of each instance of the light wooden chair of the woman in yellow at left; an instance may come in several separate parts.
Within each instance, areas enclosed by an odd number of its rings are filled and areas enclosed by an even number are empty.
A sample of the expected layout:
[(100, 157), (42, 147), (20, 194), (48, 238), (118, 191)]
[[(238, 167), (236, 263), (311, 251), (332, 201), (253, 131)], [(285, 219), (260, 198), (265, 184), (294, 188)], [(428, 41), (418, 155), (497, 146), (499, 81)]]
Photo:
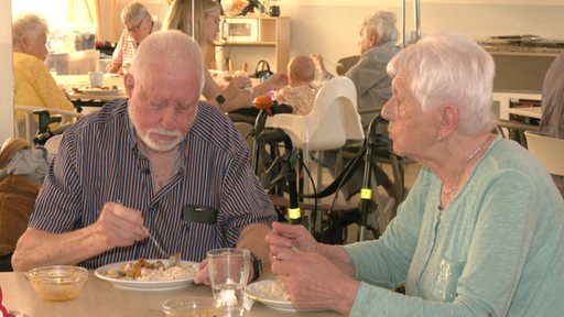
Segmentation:
[(25, 117), (23, 120), (14, 119), (14, 135), (15, 138), (21, 138), (33, 144), (33, 139), (37, 134), (39, 125), (36, 120), (35, 111), (47, 110), (50, 116), (62, 116), (62, 120), (58, 123), (58, 127), (64, 127), (65, 124), (75, 122), (79, 118), (83, 118), (84, 113), (78, 113), (74, 111), (67, 111), (56, 108), (44, 108), (44, 107), (34, 107), (34, 106), (14, 106), (14, 117), (18, 111), (23, 111)]

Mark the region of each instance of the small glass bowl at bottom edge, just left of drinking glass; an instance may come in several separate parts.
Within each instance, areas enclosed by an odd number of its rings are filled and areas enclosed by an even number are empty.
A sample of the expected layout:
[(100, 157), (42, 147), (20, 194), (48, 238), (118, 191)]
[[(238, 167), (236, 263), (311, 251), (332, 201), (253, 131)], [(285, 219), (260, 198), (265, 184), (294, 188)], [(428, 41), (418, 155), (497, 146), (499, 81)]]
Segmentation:
[(166, 317), (214, 317), (223, 316), (213, 297), (188, 296), (164, 300), (162, 305)]

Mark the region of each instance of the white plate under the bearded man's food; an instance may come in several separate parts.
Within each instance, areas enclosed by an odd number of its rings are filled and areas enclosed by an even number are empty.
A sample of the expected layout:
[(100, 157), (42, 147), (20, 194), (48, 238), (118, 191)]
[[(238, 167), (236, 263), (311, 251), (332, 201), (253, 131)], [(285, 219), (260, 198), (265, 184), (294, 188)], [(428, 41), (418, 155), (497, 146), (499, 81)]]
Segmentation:
[[(156, 262), (158, 260), (148, 260), (148, 262)], [(161, 260), (164, 265), (169, 265), (169, 260)], [(132, 281), (132, 280), (122, 280), (122, 278), (113, 278), (106, 276), (106, 272), (109, 270), (119, 270), (122, 264), (133, 263), (135, 261), (123, 261), (118, 263), (112, 263), (108, 265), (100, 266), (94, 271), (94, 275), (98, 276), (101, 280), (108, 281), (113, 286), (124, 289), (133, 289), (133, 291), (169, 291), (169, 289), (177, 289), (182, 287), (186, 287), (192, 285), (194, 281), (194, 276), (186, 278), (178, 278), (172, 281)], [(181, 261), (182, 265), (195, 265), (197, 267), (198, 263), (189, 262), (189, 261)]]

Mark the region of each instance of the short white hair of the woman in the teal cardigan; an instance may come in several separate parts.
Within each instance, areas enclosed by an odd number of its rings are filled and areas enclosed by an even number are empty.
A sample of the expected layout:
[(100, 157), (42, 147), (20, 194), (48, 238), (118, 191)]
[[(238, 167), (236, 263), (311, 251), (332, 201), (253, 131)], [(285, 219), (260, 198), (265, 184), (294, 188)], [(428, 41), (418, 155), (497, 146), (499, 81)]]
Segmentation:
[(408, 75), (411, 92), (424, 111), (452, 103), (458, 109), (459, 129), (477, 134), (494, 128), (491, 92), (494, 58), (471, 39), (440, 32), (423, 37), (388, 63), (388, 74)]

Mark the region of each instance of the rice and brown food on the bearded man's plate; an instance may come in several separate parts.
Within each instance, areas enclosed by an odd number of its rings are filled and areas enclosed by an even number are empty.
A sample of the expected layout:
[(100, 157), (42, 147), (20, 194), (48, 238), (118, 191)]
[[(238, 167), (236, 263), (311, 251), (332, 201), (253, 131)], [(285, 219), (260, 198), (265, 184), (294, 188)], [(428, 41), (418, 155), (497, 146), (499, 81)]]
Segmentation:
[(173, 281), (194, 277), (197, 272), (196, 263), (180, 262), (166, 266), (161, 260), (149, 262), (145, 259), (139, 259), (137, 262), (122, 264), (118, 270), (108, 270), (105, 275), (130, 281)]

